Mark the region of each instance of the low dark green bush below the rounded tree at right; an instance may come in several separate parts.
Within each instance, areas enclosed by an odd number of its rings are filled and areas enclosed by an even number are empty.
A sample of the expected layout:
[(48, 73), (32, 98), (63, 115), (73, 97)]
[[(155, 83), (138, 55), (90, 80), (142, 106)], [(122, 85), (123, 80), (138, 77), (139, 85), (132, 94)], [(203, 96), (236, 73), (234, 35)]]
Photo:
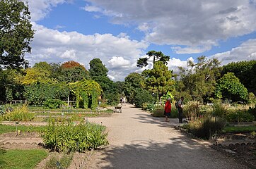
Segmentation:
[(254, 120), (254, 116), (248, 111), (231, 111), (226, 115), (228, 122), (251, 122)]

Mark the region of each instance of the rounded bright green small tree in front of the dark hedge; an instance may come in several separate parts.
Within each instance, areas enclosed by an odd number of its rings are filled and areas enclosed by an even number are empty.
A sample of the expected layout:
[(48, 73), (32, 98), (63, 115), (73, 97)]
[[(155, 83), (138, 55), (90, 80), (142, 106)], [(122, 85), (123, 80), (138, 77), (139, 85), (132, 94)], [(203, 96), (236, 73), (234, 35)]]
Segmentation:
[(234, 73), (226, 73), (216, 84), (215, 96), (217, 99), (224, 97), (233, 101), (247, 100), (248, 90)]

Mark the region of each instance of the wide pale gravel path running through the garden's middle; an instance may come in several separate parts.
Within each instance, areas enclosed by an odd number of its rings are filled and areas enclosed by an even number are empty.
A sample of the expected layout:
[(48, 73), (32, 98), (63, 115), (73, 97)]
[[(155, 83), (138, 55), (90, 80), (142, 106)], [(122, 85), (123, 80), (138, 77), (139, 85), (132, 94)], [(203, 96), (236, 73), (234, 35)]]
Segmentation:
[(178, 130), (127, 104), (111, 118), (89, 118), (107, 126), (110, 145), (95, 151), (87, 168), (245, 168)]

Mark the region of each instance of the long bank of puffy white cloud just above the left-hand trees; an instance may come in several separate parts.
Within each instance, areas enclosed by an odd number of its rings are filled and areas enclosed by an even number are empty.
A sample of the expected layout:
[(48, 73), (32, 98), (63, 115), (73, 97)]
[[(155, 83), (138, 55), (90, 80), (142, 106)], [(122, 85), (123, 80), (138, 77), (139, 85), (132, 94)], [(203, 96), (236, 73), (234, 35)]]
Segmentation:
[(134, 72), (133, 64), (144, 54), (149, 44), (129, 39), (125, 34), (115, 37), (111, 34), (83, 35), (78, 32), (59, 32), (33, 23), (36, 30), (31, 43), (32, 54), (26, 59), (31, 65), (40, 61), (63, 63), (78, 61), (89, 69), (93, 58), (100, 58), (109, 69), (109, 75), (115, 80), (124, 80)]

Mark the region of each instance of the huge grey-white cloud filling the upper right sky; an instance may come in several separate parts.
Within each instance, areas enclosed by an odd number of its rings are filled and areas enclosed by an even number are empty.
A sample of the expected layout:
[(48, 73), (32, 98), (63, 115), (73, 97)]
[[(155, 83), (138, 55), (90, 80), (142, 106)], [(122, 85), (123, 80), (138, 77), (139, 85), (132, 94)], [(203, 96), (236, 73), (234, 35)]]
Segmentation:
[(175, 50), (182, 54), (206, 51), (220, 39), (256, 30), (255, 1), (86, 1), (103, 8), (103, 15), (112, 17), (112, 23), (138, 25), (149, 42), (187, 46)]

